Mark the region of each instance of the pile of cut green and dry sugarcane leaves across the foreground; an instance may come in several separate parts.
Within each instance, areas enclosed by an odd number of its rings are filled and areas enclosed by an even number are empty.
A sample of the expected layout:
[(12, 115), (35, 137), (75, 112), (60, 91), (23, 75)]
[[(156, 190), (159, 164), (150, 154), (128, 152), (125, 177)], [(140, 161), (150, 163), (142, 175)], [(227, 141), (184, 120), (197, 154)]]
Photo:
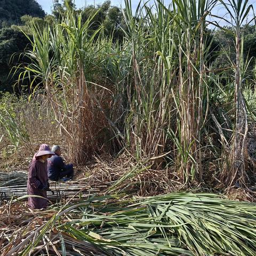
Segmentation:
[(256, 253), (256, 204), (214, 194), (94, 195), (47, 211), (0, 209), (1, 255)]

